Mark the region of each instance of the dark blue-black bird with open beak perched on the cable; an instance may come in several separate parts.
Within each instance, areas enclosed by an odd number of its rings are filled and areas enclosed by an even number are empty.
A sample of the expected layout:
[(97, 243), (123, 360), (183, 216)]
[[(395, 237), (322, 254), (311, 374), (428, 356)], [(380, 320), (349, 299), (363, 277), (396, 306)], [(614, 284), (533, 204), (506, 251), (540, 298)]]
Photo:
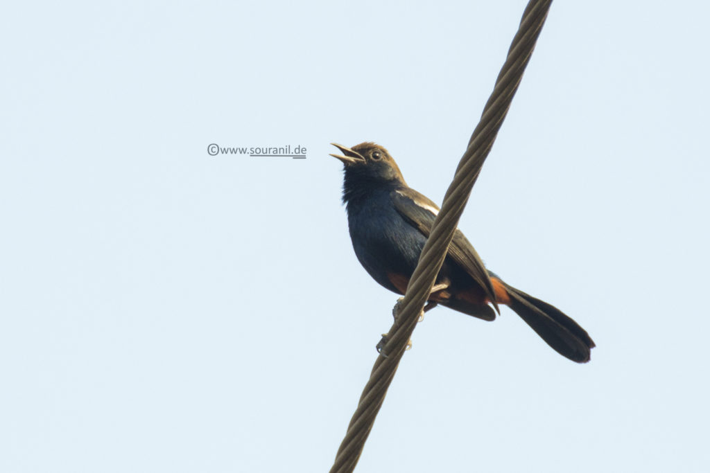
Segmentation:
[[(355, 255), (378, 284), (405, 294), (439, 206), (410, 188), (397, 163), (381, 145), (352, 148), (332, 143), (342, 154), (342, 201)], [(498, 305), (511, 308), (547, 345), (574, 362), (589, 362), (594, 341), (555, 306), (525, 294), (489, 271), (473, 245), (457, 229), (427, 309), (442, 305), (480, 318), (496, 319)]]

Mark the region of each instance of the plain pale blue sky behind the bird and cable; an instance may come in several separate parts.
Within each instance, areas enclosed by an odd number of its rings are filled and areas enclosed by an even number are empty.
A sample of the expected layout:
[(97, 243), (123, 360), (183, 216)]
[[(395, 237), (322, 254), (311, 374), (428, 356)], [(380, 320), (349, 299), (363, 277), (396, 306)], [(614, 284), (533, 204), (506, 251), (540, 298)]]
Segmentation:
[[(524, 6), (5, 6), (0, 471), (327, 471), (396, 299), (328, 143), (440, 202)], [(598, 347), (428, 313), (358, 472), (707, 471), (709, 16), (552, 5), (460, 228)]]

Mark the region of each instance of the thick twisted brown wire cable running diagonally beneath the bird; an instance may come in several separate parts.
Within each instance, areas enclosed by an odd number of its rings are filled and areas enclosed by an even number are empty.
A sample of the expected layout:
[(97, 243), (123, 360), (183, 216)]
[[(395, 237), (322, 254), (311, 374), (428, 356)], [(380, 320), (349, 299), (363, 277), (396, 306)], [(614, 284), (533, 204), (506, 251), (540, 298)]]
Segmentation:
[(417, 318), (422, 312), (439, 269), (449, 249), (454, 231), (464, 211), (471, 189), (491, 151), (498, 130), (506, 118), (510, 102), (518, 90), (525, 67), (535, 49), (537, 37), (545, 24), (552, 0), (530, 0), (520, 20), (518, 32), (508, 50), (508, 57), (496, 79), (496, 86), (486, 102), (481, 120), (471, 135), (469, 145), (449, 186), (441, 211), (432, 226), (427, 243), (417, 264), (407, 292), (399, 304), (397, 321), (392, 325), (387, 342), (373, 366), (362, 396), (338, 449), (331, 473), (352, 472), (387, 394), (397, 367), (405, 352)]

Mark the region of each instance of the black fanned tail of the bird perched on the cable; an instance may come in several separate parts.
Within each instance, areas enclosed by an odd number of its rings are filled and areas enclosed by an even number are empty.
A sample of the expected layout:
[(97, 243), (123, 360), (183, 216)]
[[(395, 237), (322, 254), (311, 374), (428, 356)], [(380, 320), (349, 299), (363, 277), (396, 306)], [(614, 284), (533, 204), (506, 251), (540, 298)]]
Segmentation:
[(510, 296), (510, 308), (525, 321), (542, 340), (560, 355), (577, 363), (589, 361), (594, 341), (579, 324), (557, 307), (540, 301), (503, 283)]

